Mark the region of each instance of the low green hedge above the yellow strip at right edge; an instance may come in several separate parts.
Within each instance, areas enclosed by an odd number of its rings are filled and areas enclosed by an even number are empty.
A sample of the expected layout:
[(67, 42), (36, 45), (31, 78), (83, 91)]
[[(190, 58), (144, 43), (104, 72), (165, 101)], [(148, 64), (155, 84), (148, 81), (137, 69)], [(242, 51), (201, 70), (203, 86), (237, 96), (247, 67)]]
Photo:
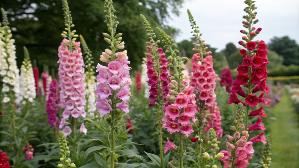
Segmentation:
[(269, 77), (277, 76), (296, 76), (299, 74), (299, 65), (279, 66), (275, 69), (269, 70)]

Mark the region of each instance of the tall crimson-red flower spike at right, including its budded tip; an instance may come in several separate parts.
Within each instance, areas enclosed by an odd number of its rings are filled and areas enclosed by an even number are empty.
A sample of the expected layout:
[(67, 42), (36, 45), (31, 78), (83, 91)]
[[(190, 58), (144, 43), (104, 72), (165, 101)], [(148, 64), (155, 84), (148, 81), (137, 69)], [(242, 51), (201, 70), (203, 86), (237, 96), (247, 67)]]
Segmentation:
[[(263, 106), (260, 109), (253, 110), (250, 112), (251, 108), (257, 106), (258, 103), (263, 103), (265, 106), (268, 106), (265, 102), (264, 93), (258, 95), (256, 94), (257, 91), (263, 91), (266, 94), (270, 91), (269, 86), (266, 84), (267, 77), (267, 67), (266, 65), (269, 64), (269, 60), (267, 58), (267, 45), (264, 41), (253, 41), (254, 37), (260, 33), (261, 28), (255, 29), (253, 27), (254, 24), (258, 22), (258, 19), (255, 19), (257, 12), (253, 12), (257, 7), (253, 4), (255, 1), (253, 0), (245, 0), (245, 4), (248, 5), (244, 9), (244, 11), (248, 14), (247, 16), (243, 16), (246, 19), (246, 22), (243, 21), (243, 27), (247, 28), (248, 31), (241, 30), (240, 32), (245, 34), (242, 39), (246, 41), (240, 41), (239, 44), (242, 45), (245, 49), (240, 50), (241, 56), (243, 56), (243, 65), (239, 65), (237, 71), (239, 74), (237, 75), (237, 80), (234, 81), (234, 86), (231, 90), (233, 94), (231, 94), (230, 101), (228, 104), (231, 103), (239, 103), (241, 102), (237, 98), (237, 94), (245, 97), (244, 106), (247, 108), (247, 112), (245, 114), (245, 130), (253, 131), (253, 130), (265, 130), (263, 124), (261, 123), (262, 118), (259, 117), (257, 122), (251, 126), (248, 125), (248, 118), (251, 116), (261, 115), (262, 117), (266, 117), (267, 114), (263, 113)], [(254, 20), (255, 19), (255, 20)], [(254, 31), (255, 30), (255, 31)], [(242, 89), (240, 85), (244, 85), (247, 88), (247, 93)], [(262, 136), (260, 136), (262, 137)], [(263, 142), (264, 137), (260, 138), (251, 138), (252, 142)], [(237, 161), (236, 161), (237, 162)], [(239, 162), (238, 162), (239, 163)], [(237, 163), (235, 163), (237, 166)]]

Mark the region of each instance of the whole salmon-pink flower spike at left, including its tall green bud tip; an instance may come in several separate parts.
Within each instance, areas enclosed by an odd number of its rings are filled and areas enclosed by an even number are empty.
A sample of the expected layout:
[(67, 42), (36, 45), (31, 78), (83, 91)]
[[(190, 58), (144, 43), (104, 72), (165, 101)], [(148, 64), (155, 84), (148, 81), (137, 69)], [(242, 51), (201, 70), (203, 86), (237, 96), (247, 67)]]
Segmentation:
[[(71, 12), (69, 11), (68, 3), (66, 0), (62, 1), (62, 7), (65, 18), (65, 30), (61, 35), (64, 37), (58, 48), (59, 56), (59, 87), (60, 87), (60, 102), (65, 107), (64, 114), (62, 116), (72, 121), (72, 129), (66, 126), (65, 135), (73, 132), (75, 136), (76, 118), (80, 115), (85, 117), (86, 112), (84, 106), (86, 104), (85, 99), (85, 75), (84, 75), (84, 62), (82, 52), (80, 48), (80, 42), (76, 42), (77, 34), (74, 34), (76, 30), (71, 31), (75, 25), (73, 25)], [(66, 39), (68, 38), (68, 39)], [(71, 114), (71, 117), (70, 115)], [(73, 141), (75, 142), (75, 140)]]

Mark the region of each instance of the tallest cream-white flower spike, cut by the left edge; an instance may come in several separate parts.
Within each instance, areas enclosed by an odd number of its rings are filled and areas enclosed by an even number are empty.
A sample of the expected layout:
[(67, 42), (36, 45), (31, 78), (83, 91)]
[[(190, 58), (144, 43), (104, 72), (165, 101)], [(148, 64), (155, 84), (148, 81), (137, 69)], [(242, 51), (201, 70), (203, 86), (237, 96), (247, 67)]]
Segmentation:
[[(19, 69), (16, 62), (16, 46), (13, 44), (14, 39), (11, 39), (12, 33), (10, 27), (8, 27), (8, 20), (6, 13), (3, 8), (1, 8), (2, 13), (2, 24), (0, 28), (0, 75), (2, 77), (4, 93), (13, 91), (14, 97), (8, 97), (8, 94), (4, 95), (3, 103), (8, 103), (10, 100), (16, 103), (20, 102), (19, 91)], [(11, 89), (11, 90), (10, 90)]]

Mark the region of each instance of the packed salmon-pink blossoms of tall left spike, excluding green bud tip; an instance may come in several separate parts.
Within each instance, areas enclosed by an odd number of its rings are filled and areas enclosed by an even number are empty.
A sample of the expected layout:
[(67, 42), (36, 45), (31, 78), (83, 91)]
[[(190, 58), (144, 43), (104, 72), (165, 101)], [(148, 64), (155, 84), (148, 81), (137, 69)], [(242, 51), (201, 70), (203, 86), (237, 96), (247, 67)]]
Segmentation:
[[(86, 117), (84, 110), (86, 104), (84, 62), (80, 42), (72, 41), (72, 43), (74, 45), (72, 52), (68, 48), (69, 40), (67, 39), (63, 39), (58, 48), (60, 102), (65, 107), (62, 113), (65, 119), (69, 118), (70, 115), (74, 118), (78, 118), (80, 115)], [(63, 129), (65, 136), (69, 135), (70, 132), (69, 126)]]

